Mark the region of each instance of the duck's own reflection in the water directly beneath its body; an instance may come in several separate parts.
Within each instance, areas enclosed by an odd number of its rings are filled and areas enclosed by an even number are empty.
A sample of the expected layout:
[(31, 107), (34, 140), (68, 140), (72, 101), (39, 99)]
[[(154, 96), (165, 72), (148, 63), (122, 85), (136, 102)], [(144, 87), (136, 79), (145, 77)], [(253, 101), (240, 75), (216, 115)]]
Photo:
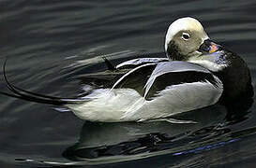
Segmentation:
[[(205, 113), (207, 115), (204, 115)], [(217, 135), (215, 128), (218, 127), (218, 123), (223, 123), (226, 109), (222, 105), (213, 105), (197, 110), (196, 115), (194, 114), (191, 111), (186, 115), (177, 115), (175, 118), (197, 120), (197, 124), (172, 124), (161, 121), (141, 123), (85, 121), (79, 142), (73, 147), (68, 147), (63, 155), (71, 161), (83, 161), (182, 147), (188, 142), (212, 136), (214, 133)], [(203, 133), (203, 130), (207, 133)]]

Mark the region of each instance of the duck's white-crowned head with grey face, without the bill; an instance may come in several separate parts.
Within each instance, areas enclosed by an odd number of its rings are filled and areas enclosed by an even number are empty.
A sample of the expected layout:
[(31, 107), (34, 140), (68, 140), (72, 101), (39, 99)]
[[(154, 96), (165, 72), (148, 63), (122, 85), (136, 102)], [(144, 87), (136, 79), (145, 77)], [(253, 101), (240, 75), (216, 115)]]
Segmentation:
[(169, 26), (165, 37), (165, 51), (171, 60), (187, 60), (202, 54), (198, 49), (209, 39), (202, 24), (193, 18), (181, 18)]

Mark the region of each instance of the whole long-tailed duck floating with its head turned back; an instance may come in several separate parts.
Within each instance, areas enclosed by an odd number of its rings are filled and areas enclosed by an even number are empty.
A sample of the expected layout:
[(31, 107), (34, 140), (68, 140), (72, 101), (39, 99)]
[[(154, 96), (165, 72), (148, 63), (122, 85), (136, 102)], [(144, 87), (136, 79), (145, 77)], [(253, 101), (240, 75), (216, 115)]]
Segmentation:
[(95, 122), (157, 121), (189, 123), (174, 115), (253, 96), (247, 63), (210, 39), (200, 21), (185, 17), (169, 26), (166, 58), (138, 58), (112, 66), (130, 68), (112, 87), (82, 98), (60, 98), (20, 89), (8, 81), (7, 96), (63, 105), (78, 118)]

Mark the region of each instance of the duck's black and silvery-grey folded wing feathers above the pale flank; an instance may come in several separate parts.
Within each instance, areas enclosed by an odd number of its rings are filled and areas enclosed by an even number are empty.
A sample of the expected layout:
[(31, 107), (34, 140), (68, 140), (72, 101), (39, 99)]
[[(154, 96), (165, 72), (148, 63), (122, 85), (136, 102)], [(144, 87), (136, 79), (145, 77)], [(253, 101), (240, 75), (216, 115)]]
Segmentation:
[(146, 100), (150, 100), (167, 87), (198, 81), (209, 82), (211, 85), (218, 83), (216, 77), (209, 70), (195, 63), (147, 63), (129, 71), (115, 82), (112, 89), (133, 89)]

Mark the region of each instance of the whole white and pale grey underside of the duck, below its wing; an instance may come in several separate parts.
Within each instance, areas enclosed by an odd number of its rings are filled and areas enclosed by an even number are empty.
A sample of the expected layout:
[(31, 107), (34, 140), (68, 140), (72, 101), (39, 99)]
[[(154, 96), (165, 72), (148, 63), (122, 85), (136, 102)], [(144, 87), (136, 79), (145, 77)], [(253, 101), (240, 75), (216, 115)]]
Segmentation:
[(210, 82), (173, 85), (159, 91), (154, 100), (146, 101), (131, 89), (97, 90), (81, 105), (68, 105), (76, 116), (85, 120), (120, 122), (143, 121), (173, 116), (218, 102), (223, 89)]

